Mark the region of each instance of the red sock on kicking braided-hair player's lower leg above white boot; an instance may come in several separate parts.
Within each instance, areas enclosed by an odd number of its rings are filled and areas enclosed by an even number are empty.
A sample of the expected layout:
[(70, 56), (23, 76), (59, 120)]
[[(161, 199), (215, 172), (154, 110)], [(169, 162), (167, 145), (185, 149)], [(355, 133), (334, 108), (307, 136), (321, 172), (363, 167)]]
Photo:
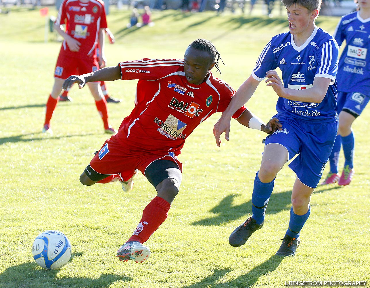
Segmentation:
[(171, 205), (161, 197), (155, 197), (142, 211), (142, 218), (134, 234), (127, 241), (138, 241), (141, 244), (147, 241), (167, 219)]

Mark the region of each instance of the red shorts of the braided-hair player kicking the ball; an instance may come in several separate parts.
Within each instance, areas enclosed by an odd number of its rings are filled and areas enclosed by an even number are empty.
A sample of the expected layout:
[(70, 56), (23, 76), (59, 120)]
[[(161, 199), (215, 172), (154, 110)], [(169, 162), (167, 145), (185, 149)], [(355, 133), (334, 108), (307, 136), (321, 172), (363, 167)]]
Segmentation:
[(94, 174), (119, 174), (122, 181), (128, 181), (134, 175), (135, 169), (139, 169), (145, 176), (145, 169), (159, 159), (175, 162), (182, 171), (182, 163), (173, 152), (156, 153), (155, 150), (152, 152), (132, 150), (132, 148), (122, 146), (113, 135), (105, 141), (99, 152), (92, 158), (90, 167), (94, 170), (91, 171)]

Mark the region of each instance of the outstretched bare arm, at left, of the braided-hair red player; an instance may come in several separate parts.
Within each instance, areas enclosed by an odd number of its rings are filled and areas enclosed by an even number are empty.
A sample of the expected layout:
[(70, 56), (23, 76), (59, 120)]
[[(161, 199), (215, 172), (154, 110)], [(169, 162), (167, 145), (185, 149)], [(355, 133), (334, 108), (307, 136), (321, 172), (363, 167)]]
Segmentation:
[(69, 76), (65, 79), (62, 89), (70, 88), (73, 83), (78, 83), (78, 87), (81, 89), (88, 82), (114, 81), (118, 79), (121, 79), (121, 68), (119, 66), (105, 67), (80, 76)]

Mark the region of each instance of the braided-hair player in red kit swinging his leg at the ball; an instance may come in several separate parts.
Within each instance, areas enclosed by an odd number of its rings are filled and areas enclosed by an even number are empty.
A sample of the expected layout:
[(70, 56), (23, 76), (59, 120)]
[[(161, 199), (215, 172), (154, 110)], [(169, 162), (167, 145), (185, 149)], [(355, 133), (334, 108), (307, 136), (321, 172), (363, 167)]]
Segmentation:
[[(121, 261), (142, 262), (150, 250), (142, 244), (165, 221), (171, 203), (179, 192), (185, 139), (205, 119), (223, 112), (235, 90), (213, 77), (220, 54), (204, 39), (192, 42), (184, 60), (142, 59), (119, 63), (81, 76), (70, 76), (63, 89), (73, 83), (82, 88), (92, 81), (139, 79), (135, 107), (121, 123), (117, 135), (108, 139), (80, 176), (84, 185), (120, 179), (124, 191), (132, 188), (137, 169), (157, 190), (157, 197), (144, 208), (131, 238), (121, 246)], [(233, 115), (244, 126), (272, 133), (281, 129), (276, 118), (268, 125), (240, 107)]]

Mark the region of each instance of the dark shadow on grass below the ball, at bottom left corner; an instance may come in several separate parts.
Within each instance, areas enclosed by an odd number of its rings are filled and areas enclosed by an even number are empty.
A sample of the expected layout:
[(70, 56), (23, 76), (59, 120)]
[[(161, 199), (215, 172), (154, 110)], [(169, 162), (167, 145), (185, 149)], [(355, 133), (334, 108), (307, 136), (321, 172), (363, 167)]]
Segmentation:
[[(75, 255), (76, 256), (76, 255)], [(68, 264), (67, 264), (68, 265)], [(61, 268), (63, 269), (63, 268)], [(108, 288), (116, 281), (131, 281), (131, 277), (114, 274), (101, 274), (99, 278), (57, 277), (58, 270), (40, 268), (36, 262), (23, 263), (6, 268), (0, 274), (0, 288), (9, 287), (59, 287), (59, 288)]]

